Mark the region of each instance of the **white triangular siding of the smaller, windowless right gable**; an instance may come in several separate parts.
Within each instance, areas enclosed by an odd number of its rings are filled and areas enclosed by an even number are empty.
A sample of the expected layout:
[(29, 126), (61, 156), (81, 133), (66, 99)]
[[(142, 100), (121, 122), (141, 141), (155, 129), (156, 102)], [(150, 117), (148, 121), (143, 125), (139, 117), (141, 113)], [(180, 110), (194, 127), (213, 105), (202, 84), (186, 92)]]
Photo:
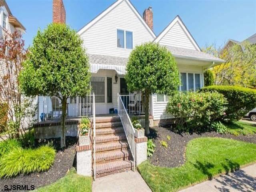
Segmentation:
[(187, 49), (196, 50), (191, 40), (188, 38), (185, 31), (180, 26), (179, 22), (176, 22), (172, 28), (164, 35), (159, 41), (162, 45), (181, 47)]

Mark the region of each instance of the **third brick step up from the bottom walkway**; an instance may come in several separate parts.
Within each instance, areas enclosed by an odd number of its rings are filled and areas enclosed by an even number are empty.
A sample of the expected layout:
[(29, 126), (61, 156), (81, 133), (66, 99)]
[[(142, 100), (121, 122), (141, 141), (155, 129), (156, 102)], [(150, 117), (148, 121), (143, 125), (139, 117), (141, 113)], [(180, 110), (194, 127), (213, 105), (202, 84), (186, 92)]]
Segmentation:
[(96, 144), (96, 152), (110, 151), (110, 150), (126, 150), (128, 148), (128, 142), (121, 140), (108, 143)]

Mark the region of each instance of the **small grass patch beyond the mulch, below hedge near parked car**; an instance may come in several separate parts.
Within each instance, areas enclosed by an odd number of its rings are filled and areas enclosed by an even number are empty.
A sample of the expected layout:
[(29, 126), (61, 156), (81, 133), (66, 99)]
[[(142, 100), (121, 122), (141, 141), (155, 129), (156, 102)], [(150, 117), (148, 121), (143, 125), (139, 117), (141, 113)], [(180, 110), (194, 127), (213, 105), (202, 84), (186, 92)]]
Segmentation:
[(250, 124), (246, 122), (235, 122), (227, 125), (228, 132), (233, 135), (248, 135), (256, 134), (256, 124)]

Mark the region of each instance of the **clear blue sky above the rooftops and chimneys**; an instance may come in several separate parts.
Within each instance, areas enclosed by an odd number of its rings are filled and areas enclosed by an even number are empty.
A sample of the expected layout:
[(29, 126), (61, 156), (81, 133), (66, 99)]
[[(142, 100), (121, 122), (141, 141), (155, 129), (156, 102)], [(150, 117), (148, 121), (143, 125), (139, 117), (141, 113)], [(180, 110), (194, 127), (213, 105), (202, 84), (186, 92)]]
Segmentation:
[[(23, 38), (32, 44), (38, 28), (52, 22), (52, 0), (6, 0), (12, 14), (26, 27)], [(115, 0), (64, 0), (66, 22), (75, 30), (87, 24)], [(178, 14), (199, 46), (242, 41), (256, 33), (256, 0), (131, 0), (142, 15), (152, 6), (158, 35)]]

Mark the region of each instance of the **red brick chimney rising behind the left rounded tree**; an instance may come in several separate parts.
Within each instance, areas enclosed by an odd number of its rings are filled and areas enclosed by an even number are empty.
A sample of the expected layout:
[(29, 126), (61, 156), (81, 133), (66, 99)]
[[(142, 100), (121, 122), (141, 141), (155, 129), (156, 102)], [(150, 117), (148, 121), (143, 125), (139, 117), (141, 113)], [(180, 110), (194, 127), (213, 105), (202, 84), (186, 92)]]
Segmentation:
[(52, 22), (66, 23), (66, 11), (62, 0), (53, 0), (52, 2)]

